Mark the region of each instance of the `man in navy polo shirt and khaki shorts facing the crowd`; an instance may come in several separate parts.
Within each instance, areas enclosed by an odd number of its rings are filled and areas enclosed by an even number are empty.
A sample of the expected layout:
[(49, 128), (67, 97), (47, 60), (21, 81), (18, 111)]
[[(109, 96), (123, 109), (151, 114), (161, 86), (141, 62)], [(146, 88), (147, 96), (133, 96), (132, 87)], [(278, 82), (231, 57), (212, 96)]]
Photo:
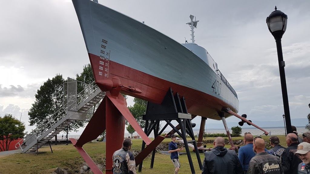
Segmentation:
[(179, 154), (178, 152), (183, 150), (183, 147), (178, 148), (178, 146), (176, 145), (175, 141), (176, 141), (176, 135), (172, 135), (171, 136), (171, 142), (169, 143), (169, 153), (170, 154), (170, 159), (172, 160), (174, 166), (175, 166), (175, 174), (179, 173), (179, 169), (181, 167), (180, 162), (179, 162)]

